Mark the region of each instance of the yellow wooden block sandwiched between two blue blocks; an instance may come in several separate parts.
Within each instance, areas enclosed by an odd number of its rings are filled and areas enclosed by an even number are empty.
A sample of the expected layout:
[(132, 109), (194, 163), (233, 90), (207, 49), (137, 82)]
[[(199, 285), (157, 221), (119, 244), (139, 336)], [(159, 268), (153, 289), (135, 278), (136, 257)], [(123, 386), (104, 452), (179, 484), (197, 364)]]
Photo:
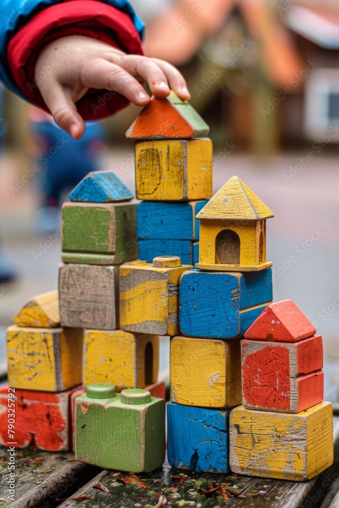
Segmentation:
[(217, 409), (241, 404), (240, 340), (173, 337), (171, 401)]

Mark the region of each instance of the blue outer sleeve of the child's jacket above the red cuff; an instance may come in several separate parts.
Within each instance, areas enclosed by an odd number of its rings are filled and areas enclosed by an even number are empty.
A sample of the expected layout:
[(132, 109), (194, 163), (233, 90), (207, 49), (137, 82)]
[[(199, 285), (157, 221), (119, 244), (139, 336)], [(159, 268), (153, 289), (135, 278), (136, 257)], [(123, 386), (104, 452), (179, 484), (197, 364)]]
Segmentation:
[[(122, 12), (128, 14), (136, 29), (143, 38), (144, 25), (136, 15), (133, 7), (127, 0), (99, 0)], [(41, 10), (57, 4), (63, 4), (67, 0), (2, 0), (2, 16), (0, 17), (0, 80), (25, 99), (20, 89), (15, 84), (7, 61), (7, 48), (11, 38), (28, 21)]]

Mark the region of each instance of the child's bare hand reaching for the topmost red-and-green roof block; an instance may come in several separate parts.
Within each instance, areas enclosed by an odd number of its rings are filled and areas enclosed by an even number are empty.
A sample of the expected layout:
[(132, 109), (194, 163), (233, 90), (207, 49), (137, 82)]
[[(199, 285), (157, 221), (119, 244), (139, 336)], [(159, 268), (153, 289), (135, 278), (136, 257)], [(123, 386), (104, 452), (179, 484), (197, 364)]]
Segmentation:
[[(81, 37), (81, 43), (69, 52), (67, 46), (72, 36), (53, 41), (43, 48), (36, 63), (36, 75), (56, 60), (57, 50), (63, 50), (52, 72), (41, 81), (39, 89), (56, 123), (73, 138), (80, 138), (85, 124), (76, 110), (75, 103), (88, 88), (104, 88), (123, 94), (137, 106), (148, 104), (150, 97), (139, 80), (145, 80), (157, 97), (167, 97), (169, 86), (182, 100), (190, 98), (186, 81), (169, 63), (140, 55), (127, 55), (108, 44)], [(65, 54), (67, 57), (65, 58)]]

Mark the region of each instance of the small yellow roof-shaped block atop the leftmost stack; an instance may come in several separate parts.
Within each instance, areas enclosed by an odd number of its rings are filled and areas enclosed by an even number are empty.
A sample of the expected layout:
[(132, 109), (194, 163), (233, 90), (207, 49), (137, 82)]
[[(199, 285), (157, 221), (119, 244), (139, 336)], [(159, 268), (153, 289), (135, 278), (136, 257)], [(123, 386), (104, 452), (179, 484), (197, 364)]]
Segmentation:
[(54, 328), (60, 325), (57, 291), (43, 293), (28, 300), (13, 316), (19, 326)]

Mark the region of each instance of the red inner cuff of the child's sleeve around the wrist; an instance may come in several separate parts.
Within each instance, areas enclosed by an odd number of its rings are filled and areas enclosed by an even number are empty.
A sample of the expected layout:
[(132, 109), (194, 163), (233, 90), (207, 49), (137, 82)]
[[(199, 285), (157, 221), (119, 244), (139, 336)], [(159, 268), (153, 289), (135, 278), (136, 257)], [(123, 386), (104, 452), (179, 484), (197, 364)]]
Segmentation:
[[(36, 77), (36, 59), (45, 44), (69, 35), (74, 36), (70, 51), (82, 35), (99, 39), (126, 53), (143, 54), (140, 36), (132, 19), (114, 7), (96, 0), (69, 0), (44, 9), (15, 34), (7, 56), (13, 78), (25, 97), (48, 112), (37, 82), (46, 77), (49, 69), (47, 66), (41, 76)], [(51, 61), (53, 65), (57, 65), (56, 60)], [(120, 93), (91, 88), (76, 106), (85, 120), (98, 120), (128, 104), (129, 101)]]

